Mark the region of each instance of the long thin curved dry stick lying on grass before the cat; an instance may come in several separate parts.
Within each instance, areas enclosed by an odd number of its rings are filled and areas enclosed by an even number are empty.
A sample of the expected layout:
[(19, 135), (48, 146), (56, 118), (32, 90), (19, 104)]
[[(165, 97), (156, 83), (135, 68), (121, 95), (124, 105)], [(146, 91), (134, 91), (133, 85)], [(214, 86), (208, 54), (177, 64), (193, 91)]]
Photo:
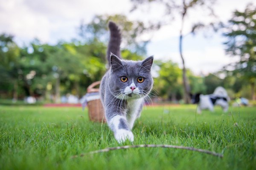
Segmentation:
[[(163, 147), (163, 148), (176, 148), (176, 149), (184, 149), (184, 150), (192, 150), (196, 152), (201, 152), (201, 153), (207, 153), (209, 155), (217, 156), (222, 158), (223, 155), (220, 153), (215, 153), (211, 152), (209, 150), (202, 150), (202, 149), (197, 149), (194, 147), (183, 147), (183, 146), (176, 146), (176, 145), (168, 145), (168, 144), (140, 144), (140, 145), (126, 145), (126, 146), (120, 146), (120, 147), (108, 147), (102, 150), (94, 150), (89, 152), (89, 154), (94, 154), (94, 153), (101, 153), (101, 152), (109, 152), (111, 150), (120, 150), (120, 149), (128, 149), (128, 148), (138, 148), (138, 147)], [(84, 156), (85, 154), (80, 154), (80, 157)], [(78, 156), (75, 155), (72, 158), (77, 158)]]

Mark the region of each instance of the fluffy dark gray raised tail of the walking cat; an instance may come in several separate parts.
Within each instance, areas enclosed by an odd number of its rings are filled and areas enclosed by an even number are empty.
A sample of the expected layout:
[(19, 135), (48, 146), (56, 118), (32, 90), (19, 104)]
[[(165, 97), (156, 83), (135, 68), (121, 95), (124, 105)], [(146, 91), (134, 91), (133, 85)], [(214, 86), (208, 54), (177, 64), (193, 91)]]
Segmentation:
[(106, 57), (108, 60), (108, 65), (110, 66), (111, 52), (121, 59), (121, 53), (120, 53), (121, 33), (118, 26), (116, 26), (116, 23), (113, 23), (111, 21), (108, 23), (108, 28), (110, 30), (110, 40), (108, 42), (108, 51), (107, 51)]

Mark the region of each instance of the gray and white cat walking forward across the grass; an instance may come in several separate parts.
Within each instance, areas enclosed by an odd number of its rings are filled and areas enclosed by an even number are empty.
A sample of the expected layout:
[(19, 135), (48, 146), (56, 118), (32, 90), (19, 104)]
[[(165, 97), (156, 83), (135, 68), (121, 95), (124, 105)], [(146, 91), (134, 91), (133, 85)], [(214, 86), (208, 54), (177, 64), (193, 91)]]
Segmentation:
[[(121, 143), (134, 141), (131, 129), (143, 109), (143, 98), (151, 91), (153, 57), (143, 61), (122, 60), (121, 34), (115, 23), (109, 22), (110, 41), (107, 59), (110, 69), (100, 84), (100, 94), (108, 126)], [(115, 54), (115, 55), (114, 55)]]

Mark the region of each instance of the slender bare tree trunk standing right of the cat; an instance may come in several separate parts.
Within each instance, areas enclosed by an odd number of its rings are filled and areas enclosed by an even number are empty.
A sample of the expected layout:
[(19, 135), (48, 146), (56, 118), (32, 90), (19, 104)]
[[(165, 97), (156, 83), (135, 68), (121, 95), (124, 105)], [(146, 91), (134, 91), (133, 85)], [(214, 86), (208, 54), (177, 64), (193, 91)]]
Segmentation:
[(179, 40), (179, 49), (180, 49), (180, 58), (182, 60), (182, 79), (183, 79), (183, 89), (184, 89), (184, 102), (185, 104), (189, 104), (190, 103), (190, 96), (189, 96), (189, 92), (190, 92), (190, 87), (188, 84), (188, 79), (186, 76), (186, 67), (185, 67), (185, 61), (183, 58), (183, 54), (182, 54), (182, 39), (183, 39), (183, 35), (182, 35), (182, 30), (183, 30), (183, 22), (184, 22), (184, 16), (186, 13), (183, 13), (182, 16), (182, 21), (181, 21), (181, 28), (180, 28), (180, 40)]

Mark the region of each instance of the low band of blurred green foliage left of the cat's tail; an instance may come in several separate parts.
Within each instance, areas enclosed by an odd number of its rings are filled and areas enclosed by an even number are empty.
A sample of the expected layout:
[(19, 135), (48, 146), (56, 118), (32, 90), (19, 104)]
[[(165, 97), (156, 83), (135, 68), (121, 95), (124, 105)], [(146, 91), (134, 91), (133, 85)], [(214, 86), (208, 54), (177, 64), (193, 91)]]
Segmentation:
[[(59, 79), (62, 94), (73, 91), (84, 94), (86, 87), (99, 81), (105, 73), (105, 50), (102, 43), (77, 44), (59, 43), (55, 46), (41, 44), (38, 40), (29, 46), (19, 48), (11, 36), (2, 35), (0, 39), (3, 49), (0, 54), (0, 90), (7, 92), (3, 97), (18, 93), (19, 98), (27, 95), (44, 96), (55, 93), (56, 81)], [(9, 42), (5, 42), (9, 40)], [(16, 50), (11, 50), (9, 46)], [(13, 53), (15, 51), (15, 53)], [(12, 57), (10, 57), (12, 56)], [(12, 84), (17, 83), (17, 89)], [(52, 84), (49, 89), (47, 85)], [(82, 88), (83, 87), (83, 88)]]

